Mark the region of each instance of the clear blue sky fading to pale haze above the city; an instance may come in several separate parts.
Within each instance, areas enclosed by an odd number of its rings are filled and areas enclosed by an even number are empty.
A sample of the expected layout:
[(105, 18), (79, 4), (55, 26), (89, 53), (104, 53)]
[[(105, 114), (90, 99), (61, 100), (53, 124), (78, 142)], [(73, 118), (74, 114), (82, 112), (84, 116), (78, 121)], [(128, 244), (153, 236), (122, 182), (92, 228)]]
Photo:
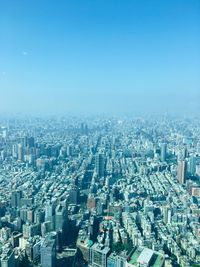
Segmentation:
[(0, 0), (0, 112), (200, 110), (199, 0)]

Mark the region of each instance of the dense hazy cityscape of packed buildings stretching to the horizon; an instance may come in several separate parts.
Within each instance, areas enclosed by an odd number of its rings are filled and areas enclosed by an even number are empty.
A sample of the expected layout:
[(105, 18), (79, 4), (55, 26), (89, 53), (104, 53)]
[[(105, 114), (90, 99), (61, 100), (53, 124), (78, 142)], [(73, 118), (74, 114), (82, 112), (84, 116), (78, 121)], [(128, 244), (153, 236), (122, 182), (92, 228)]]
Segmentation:
[(1, 267), (200, 266), (198, 118), (0, 120)]

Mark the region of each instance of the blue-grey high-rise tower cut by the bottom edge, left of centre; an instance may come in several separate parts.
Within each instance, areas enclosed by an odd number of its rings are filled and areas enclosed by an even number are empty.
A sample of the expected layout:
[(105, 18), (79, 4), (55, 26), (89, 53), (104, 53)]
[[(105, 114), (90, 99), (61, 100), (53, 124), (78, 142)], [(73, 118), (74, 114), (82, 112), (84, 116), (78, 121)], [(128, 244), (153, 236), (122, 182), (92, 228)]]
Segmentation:
[(56, 266), (56, 240), (46, 236), (41, 242), (41, 267)]

